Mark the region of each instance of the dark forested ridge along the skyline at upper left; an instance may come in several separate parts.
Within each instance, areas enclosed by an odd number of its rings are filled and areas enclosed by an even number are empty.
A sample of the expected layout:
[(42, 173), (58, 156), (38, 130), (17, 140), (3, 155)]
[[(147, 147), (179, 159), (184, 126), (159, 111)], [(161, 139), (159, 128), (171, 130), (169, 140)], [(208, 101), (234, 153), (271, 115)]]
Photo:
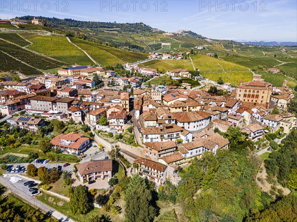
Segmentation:
[[(68, 27), (80, 27), (80, 28), (105, 28), (105, 29), (119, 29), (117, 32), (122, 33), (142, 33), (142, 32), (153, 32), (153, 29), (140, 22), (140, 23), (116, 23), (116, 22), (90, 22), (90, 21), (79, 21), (74, 19), (59, 19), (59, 18), (49, 18), (43, 16), (35, 16), (38, 19), (46, 19), (47, 26), (60, 28), (62, 26)], [(26, 15), (22, 17), (17, 17), (23, 20), (32, 20), (34, 16)]]

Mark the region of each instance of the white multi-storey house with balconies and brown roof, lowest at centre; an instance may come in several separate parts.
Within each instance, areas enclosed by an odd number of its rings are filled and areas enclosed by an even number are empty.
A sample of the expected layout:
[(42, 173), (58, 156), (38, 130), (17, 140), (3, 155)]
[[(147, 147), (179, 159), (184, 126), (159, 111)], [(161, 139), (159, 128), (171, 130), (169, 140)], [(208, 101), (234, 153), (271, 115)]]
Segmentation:
[(138, 157), (134, 162), (138, 163), (136, 173), (156, 184), (162, 185), (166, 180), (167, 166), (152, 160)]

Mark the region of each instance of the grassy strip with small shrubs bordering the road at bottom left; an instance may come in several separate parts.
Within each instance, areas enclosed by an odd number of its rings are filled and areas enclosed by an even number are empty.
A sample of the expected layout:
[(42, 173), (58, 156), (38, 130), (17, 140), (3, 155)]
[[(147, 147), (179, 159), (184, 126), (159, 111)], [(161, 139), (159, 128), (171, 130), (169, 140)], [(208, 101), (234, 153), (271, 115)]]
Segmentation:
[(124, 221), (123, 218), (121, 218), (119, 215), (112, 215), (108, 212), (104, 212), (102, 209), (99, 208), (94, 208), (86, 215), (74, 215), (70, 211), (69, 203), (67, 201), (62, 200), (56, 196), (49, 195), (45, 192), (37, 195), (36, 198), (78, 222), (90, 222), (91, 220), (94, 220), (94, 218), (99, 218), (102, 214), (110, 216), (111, 221)]

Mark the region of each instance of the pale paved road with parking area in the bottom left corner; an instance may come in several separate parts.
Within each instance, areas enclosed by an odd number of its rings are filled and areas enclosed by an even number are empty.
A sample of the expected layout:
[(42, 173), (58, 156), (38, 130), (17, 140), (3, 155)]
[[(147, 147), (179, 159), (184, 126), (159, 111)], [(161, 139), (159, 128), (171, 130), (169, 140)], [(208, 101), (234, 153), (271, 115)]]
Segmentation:
[(49, 207), (47, 204), (35, 199), (34, 197), (31, 196), (31, 192), (29, 191), (28, 186), (24, 186), (23, 184), (27, 180), (22, 180), (19, 181), (15, 184), (12, 184), (9, 182), (9, 178), (0, 178), (0, 183), (7, 188), (9, 188), (13, 193), (21, 197), (22, 199), (26, 200), (27, 202), (33, 204), (34, 206), (40, 208), (41, 210), (45, 211), (46, 213), (51, 214), (53, 217), (58, 219), (59, 221), (62, 222), (74, 222), (70, 218), (66, 217), (65, 215), (61, 214), (60, 212), (56, 211), (55, 209)]

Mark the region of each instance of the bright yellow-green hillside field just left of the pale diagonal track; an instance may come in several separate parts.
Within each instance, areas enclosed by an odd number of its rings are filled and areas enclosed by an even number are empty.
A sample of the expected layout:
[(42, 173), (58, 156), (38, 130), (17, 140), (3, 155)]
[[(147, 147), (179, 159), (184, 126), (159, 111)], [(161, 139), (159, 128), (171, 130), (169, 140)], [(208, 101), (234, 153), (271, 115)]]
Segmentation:
[(91, 65), (93, 62), (66, 37), (38, 36), (30, 38), (29, 49), (60, 60), (67, 64)]

